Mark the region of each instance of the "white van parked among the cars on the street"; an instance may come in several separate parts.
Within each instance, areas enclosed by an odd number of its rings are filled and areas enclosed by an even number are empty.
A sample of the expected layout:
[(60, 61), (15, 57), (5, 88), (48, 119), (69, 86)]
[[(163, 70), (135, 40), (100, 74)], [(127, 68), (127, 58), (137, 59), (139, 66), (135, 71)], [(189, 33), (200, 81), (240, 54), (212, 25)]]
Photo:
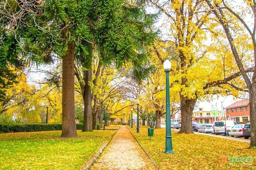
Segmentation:
[(231, 127), (236, 125), (237, 123), (235, 121), (215, 121), (213, 122), (214, 125), (214, 133), (216, 135), (219, 134), (226, 134), (226, 130), (228, 131)]

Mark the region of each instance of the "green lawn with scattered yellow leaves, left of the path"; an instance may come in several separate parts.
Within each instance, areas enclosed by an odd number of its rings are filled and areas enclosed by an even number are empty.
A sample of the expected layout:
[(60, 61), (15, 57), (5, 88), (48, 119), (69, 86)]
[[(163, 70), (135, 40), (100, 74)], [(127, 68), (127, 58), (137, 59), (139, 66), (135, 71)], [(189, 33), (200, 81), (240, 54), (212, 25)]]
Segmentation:
[(115, 131), (81, 132), (60, 139), (61, 131), (0, 134), (0, 169), (79, 169)]

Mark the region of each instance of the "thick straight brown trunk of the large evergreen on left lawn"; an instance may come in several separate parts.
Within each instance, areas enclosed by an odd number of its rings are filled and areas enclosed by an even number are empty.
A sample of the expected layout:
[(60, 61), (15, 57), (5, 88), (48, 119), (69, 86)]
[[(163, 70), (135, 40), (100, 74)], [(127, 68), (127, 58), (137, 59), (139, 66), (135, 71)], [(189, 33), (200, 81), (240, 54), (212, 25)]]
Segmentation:
[(75, 64), (74, 42), (68, 44), (68, 53), (62, 57), (62, 132), (61, 137), (77, 137), (75, 122)]

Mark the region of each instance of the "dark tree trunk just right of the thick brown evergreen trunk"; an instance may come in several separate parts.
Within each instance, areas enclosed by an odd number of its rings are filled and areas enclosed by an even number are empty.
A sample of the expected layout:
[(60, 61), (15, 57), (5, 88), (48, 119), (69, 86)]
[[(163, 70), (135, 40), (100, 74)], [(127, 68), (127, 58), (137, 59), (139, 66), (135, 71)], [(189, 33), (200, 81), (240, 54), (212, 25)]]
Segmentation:
[(84, 71), (84, 127), (83, 132), (92, 131), (92, 63), (90, 62), (88, 70)]

